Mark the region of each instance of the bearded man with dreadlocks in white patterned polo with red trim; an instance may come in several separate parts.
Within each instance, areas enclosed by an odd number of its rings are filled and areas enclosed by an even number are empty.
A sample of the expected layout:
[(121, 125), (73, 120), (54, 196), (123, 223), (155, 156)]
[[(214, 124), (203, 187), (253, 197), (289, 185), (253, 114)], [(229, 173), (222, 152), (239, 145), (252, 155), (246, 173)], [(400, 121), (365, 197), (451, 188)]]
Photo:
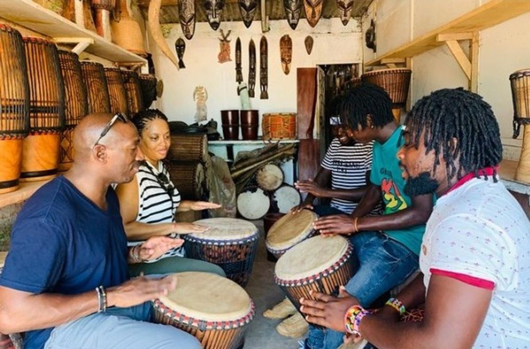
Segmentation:
[[(530, 222), (498, 181), (502, 146), (489, 104), (461, 88), (412, 108), (398, 153), (412, 194), (436, 192), (420, 275), (377, 314), (354, 297), (302, 300), (308, 321), (378, 348), (530, 346)], [(425, 303), (422, 323), (398, 322)], [(357, 339), (357, 338), (356, 338)]]

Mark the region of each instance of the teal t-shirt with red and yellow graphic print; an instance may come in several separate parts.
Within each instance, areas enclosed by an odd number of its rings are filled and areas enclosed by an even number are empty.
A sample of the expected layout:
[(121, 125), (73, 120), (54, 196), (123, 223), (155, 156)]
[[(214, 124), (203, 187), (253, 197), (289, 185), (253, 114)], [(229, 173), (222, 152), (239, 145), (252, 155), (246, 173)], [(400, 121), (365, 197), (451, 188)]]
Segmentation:
[[(404, 192), (405, 180), (401, 176), (398, 150), (403, 145), (400, 137), (402, 127), (398, 127), (392, 136), (383, 144), (374, 142), (372, 172), (370, 182), (381, 186), (385, 210), (383, 214), (391, 214), (404, 210), (412, 205), (410, 196)], [(386, 230), (385, 233), (407, 246), (412, 252), (419, 255), (421, 239), (425, 232), (425, 225), (413, 226), (407, 229)]]

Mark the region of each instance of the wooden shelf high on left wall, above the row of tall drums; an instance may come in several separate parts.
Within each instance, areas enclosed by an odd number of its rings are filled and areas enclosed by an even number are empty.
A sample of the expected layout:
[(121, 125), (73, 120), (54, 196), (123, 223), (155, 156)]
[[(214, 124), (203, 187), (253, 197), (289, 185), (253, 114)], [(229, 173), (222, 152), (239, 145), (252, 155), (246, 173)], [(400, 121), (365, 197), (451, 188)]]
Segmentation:
[(94, 43), (85, 51), (113, 62), (147, 63), (144, 58), (103, 39), (97, 33), (81, 28), (32, 0), (0, 0), (0, 17), (52, 39), (92, 39)]

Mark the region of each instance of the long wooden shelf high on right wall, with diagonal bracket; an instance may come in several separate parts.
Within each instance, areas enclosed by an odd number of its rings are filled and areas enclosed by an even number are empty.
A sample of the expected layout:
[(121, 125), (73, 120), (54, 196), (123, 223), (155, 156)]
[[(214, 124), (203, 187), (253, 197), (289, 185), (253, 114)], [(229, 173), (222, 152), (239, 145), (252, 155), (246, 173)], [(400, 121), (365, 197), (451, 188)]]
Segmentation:
[[(491, 0), (475, 10), (458, 17), (403, 46), (384, 53), (376, 59), (365, 63), (365, 66), (382, 65), (382, 60), (408, 58), (445, 44), (438, 35), (478, 32), (497, 25), (530, 11), (528, 0)], [(458, 39), (456, 39), (458, 40)]]

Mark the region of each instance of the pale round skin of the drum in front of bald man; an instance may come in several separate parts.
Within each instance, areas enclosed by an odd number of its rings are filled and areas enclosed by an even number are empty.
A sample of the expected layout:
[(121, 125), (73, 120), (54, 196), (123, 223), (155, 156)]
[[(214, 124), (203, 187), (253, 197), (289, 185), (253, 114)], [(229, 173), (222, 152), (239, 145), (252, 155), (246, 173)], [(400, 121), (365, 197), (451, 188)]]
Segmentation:
[(183, 316), (204, 321), (236, 321), (253, 312), (249, 294), (232, 280), (202, 272), (173, 275), (176, 288), (160, 301)]

